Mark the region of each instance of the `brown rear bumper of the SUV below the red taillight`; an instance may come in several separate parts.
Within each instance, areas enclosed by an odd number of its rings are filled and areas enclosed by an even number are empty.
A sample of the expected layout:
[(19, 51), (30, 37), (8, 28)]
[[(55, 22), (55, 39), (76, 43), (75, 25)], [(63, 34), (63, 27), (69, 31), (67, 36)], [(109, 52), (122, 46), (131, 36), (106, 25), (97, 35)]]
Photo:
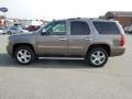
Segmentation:
[(110, 56), (120, 56), (123, 55), (124, 52), (125, 52), (125, 47), (112, 48)]

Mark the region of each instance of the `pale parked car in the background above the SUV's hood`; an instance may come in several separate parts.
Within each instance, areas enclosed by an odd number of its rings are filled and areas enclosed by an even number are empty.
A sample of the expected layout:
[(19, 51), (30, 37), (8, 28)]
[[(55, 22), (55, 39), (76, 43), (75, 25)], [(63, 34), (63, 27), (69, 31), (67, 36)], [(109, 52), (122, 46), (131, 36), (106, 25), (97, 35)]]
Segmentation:
[(8, 34), (18, 34), (18, 33), (23, 33), (22, 28), (20, 26), (10, 26), (7, 29)]

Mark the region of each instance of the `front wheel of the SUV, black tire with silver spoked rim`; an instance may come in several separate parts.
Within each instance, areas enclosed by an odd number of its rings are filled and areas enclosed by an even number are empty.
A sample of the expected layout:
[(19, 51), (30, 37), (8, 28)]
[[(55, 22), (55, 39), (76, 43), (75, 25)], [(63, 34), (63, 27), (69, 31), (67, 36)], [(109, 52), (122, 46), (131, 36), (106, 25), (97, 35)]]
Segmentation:
[(14, 59), (21, 65), (29, 65), (35, 59), (35, 54), (32, 48), (26, 46), (18, 47), (14, 52)]

